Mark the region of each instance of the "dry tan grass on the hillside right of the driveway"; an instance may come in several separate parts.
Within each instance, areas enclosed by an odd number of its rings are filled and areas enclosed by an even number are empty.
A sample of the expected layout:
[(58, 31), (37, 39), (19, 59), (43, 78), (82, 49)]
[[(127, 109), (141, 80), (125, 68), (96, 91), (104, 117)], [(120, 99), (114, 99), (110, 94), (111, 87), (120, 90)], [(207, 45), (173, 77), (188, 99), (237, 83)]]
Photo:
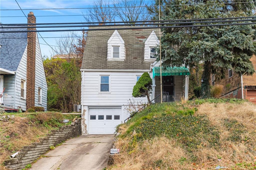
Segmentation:
[[(226, 169), (251, 169), (237, 163), (256, 162), (256, 106), (245, 102), (237, 103), (204, 103), (198, 106), (195, 116), (207, 115), (211, 126), (215, 126), (220, 134), (219, 143), (210, 147), (207, 143), (192, 153), (196, 162), (190, 162), (192, 155), (180, 147), (175, 139), (156, 137), (153, 140), (133, 141), (132, 137), (120, 138), (116, 146), (121, 149), (115, 155), (114, 165), (109, 169), (215, 169), (217, 165)], [(235, 120), (240, 129), (232, 131), (224, 124), (227, 120)], [(227, 123), (227, 122), (226, 122)], [(229, 123), (229, 122), (228, 122)], [(119, 132), (124, 134), (129, 128), (124, 124)], [(237, 141), (228, 139), (236, 130), (241, 130)], [(131, 144), (131, 142), (134, 142)], [(134, 147), (131, 151), (131, 147)], [(181, 158), (186, 161), (180, 163)], [(221, 159), (221, 160), (220, 160)], [(157, 165), (157, 161), (161, 164)], [(255, 166), (255, 163), (254, 165)]]

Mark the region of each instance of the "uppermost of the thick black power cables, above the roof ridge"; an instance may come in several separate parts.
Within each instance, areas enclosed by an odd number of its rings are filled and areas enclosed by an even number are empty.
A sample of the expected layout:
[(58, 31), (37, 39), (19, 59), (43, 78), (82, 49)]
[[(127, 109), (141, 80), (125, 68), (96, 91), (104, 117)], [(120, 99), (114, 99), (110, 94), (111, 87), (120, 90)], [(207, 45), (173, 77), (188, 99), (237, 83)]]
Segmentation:
[[(99, 24), (101, 26), (103, 24), (110, 23), (141, 23), (141, 22), (172, 22), (172, 21), (205, 21), (205, 20), (223, 20), (223, 19), (246, 19), (246, 18), (256, 18), (256, 16), (248, 16), (248, 17), (226, 17), (226, 18), (198, 18), (198, 19), (173, 19), (173, 20), (142, 20), (142, 21), (111, 21), (111, 22), (57, 22), (57, 23), (35, 23), (33, 25), (64, 25), (64, 24)], [(15, 26), (25, 26), (31, 25), (28, 23), (24, 24), (0, 24), (0, 25), (15, 25)]]

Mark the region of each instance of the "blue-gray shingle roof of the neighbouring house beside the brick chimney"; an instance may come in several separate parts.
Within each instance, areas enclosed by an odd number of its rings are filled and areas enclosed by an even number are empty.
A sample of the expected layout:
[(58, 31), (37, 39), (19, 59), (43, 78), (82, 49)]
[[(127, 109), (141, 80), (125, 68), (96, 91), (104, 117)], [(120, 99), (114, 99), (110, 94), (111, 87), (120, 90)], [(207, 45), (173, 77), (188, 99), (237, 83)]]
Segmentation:
[[(4, 27), (7, 27), (7, 26), (4, 26)], [(0, 29), (1, 31), (3, 30), (2, 28)], [(11, 30), (27, 30), (27, 29), (25, 28), (4, 29), (4, 31), (11, 31)], [(9, 71), (16, 71), (27, 46), (27, 33), (26, 32), (1, 33), (0, 44), (2, 46), (0, 48), (0, 68), (6, 69)]]

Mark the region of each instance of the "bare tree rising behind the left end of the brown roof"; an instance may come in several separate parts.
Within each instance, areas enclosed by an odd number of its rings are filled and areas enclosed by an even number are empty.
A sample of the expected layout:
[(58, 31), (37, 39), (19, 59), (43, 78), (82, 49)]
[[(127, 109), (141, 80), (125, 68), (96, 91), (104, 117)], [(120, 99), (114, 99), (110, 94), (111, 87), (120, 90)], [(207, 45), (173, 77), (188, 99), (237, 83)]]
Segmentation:
[(97, 0), (93, 3), (92, 8), (88, 10), (88, 14), (84, 15), (86, 22), (111, 22), (115, 20), (114, 11), (109, 8), (109, 2)]

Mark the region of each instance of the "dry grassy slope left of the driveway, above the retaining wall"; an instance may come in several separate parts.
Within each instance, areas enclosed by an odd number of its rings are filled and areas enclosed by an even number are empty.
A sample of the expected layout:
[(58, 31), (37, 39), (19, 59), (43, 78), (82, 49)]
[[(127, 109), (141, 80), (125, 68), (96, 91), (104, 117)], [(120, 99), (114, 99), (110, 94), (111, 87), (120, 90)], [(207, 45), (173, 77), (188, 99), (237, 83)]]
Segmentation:
[(63, 119), (69, 119), (71, 124), (76, 115), (63, 115), (58, 112), (35, 113), (4, 113), (15, 115), (13, 119), (0, 121), (0, 169), (9, 156), (19, 151), (23, 146), (38, 141), (52, 129), (65, 125)]

